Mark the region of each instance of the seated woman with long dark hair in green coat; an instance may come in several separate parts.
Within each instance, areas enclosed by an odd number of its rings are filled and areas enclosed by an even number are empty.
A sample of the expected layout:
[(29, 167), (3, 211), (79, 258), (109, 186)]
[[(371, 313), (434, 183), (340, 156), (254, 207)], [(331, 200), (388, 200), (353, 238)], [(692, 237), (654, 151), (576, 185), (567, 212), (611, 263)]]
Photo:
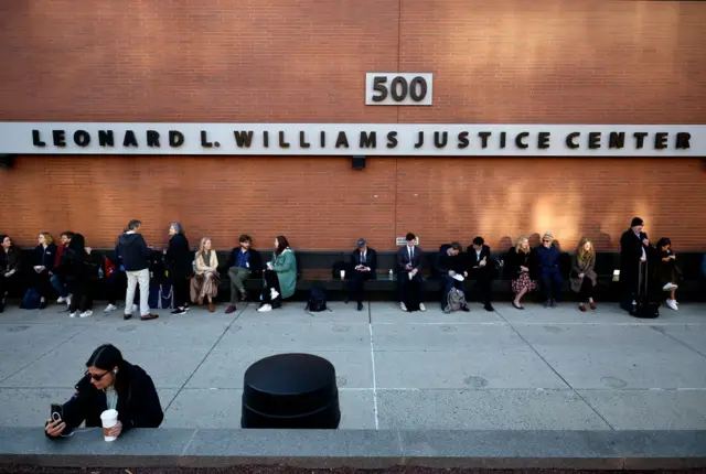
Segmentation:
[(295, 252), (289, 248), (287, 237), (277, 236), (272, 260), (267, 262), (263, 272), (263, 302), (257, 309), (260, 313), (272, 311), (282, 305), (282, 300), (295, 294), (297, 288), (297, 261)]

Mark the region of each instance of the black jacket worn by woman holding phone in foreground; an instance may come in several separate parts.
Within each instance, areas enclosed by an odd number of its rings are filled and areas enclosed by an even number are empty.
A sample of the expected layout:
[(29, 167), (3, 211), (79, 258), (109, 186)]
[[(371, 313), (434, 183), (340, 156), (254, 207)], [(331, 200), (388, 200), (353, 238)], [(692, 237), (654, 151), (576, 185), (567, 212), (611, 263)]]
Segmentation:
[[(84, 421), (86, 428), (100, 427), (100, 413), (107, 410), (106, 394), (98, 390), (86, 375), (76, 384), (76, 392), (64, 403), (64, 422), (68, 434)], [(164, 419), (152, 378), (137, 365), (125, 363), (116, 381), (118, 420), (122, 432), (132, 428), (158, 428)]]

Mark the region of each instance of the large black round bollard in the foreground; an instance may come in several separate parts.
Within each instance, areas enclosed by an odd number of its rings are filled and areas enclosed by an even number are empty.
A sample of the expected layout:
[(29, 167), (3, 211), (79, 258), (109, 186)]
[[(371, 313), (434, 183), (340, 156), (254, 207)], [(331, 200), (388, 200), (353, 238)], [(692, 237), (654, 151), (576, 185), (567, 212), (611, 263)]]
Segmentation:
[(242, 428), (336, 429), (340, 421), (335, 369), (329, 360), (278, 354), (245, 370)]

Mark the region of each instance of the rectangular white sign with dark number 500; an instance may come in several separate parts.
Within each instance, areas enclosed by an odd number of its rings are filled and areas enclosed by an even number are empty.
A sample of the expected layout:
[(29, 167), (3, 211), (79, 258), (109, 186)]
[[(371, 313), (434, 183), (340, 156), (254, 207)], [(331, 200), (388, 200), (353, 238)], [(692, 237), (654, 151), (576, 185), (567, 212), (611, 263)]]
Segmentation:
[(365, 105), (430, 106), (431, 73), (367, 73)]

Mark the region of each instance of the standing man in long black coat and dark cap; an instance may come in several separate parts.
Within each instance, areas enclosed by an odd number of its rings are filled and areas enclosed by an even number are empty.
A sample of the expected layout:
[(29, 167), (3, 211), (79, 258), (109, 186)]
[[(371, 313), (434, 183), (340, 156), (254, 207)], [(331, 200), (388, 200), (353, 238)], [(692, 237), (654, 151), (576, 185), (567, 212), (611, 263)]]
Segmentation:
[(630, 311), (632, 299), (639, 293), (638, 290), (644, 291), (644, 280), (640, 280), (640, 272), (642, 272), (642, 278), (648, 278), (646, 266), (651, 247), (643, 229), (644, 220), (635, 217), (630, 223), (630, 228), (620, 237), (620, 282), (622, 287), (620, 305), (625, 311)]

